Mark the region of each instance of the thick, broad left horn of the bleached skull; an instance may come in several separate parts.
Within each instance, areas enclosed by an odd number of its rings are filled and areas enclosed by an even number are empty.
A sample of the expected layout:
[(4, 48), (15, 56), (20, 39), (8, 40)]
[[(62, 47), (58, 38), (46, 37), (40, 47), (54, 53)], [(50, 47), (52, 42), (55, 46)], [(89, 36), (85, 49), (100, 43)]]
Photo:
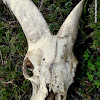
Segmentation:
[(27, 40), (33, 43), (44, 35), (50, 35), (45, 19), (31, 0), (3, 0), (3, 2), (18, 19)]

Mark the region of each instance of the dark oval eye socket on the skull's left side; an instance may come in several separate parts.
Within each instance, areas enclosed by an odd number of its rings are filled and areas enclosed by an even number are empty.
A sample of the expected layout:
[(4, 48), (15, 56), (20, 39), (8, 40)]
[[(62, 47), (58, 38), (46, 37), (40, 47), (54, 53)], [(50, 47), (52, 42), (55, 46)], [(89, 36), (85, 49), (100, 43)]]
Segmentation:
[(31, 61), (26, 58), (23, 63), (23, 73), (26, 77), (30, 78), (33, 76), (34, 65)]

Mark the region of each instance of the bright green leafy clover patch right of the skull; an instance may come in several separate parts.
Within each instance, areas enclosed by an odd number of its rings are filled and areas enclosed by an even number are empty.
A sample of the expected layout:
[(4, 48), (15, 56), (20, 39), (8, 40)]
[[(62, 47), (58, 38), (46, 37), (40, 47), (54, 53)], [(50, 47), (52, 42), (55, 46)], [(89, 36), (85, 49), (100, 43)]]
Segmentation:
[(89, 82), (93, 83), (96, 88), (100, 87), (100, 57), (98, 52), (93, 54), (87, 49), (83, 55), (84, 66), (87, 66), (87, 79)]

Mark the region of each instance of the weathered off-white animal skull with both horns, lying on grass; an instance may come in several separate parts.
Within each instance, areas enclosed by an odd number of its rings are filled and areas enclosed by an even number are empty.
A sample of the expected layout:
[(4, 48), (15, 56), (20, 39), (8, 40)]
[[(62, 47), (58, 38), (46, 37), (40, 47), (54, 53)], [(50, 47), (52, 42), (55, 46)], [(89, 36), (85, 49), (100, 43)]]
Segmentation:
[[(32, 83), (31, 100), (66, 100), (78, 63), (73, 45), (85, 0), (79, 2), (55, 36), (50, 34), (46, 21), (32, 1), (3, 1), (15, 14), (28, 41), (22, 69), (25, 78)], [(27, 68), (33, 73), (31, 77)]]

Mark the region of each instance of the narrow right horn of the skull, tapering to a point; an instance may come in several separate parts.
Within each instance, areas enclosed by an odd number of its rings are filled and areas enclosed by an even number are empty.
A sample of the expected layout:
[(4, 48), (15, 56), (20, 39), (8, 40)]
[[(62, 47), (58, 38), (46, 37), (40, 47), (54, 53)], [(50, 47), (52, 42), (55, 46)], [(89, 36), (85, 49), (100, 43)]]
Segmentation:
[(58, 37), (70, 36), (71, 39), (74, 41), (76, 40), (78, 31), (77, 27), (83, 10), (84, 1), (85, 0), (81, 0), (66, 18), (58, 32)]

